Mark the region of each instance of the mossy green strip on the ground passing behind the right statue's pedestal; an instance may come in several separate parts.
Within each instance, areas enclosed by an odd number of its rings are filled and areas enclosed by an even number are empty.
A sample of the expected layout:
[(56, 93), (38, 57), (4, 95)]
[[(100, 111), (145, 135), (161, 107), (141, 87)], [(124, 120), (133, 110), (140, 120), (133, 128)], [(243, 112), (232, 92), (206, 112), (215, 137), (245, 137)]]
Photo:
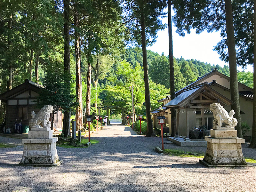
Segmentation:
[[(202, 158), (202, 159), (204, 158), (204, 154), (193, 153), (188, 151), (186, 152), (186, 151), (177, 150), (177, 149), (164, 149), (164, 154), (170, 155), (170, 156), (196, 157), (196, 158)], [(247, 157), (244, 157), (244, 159), (247, 163), (256, 163), (255, 159), (247, 158)]]

